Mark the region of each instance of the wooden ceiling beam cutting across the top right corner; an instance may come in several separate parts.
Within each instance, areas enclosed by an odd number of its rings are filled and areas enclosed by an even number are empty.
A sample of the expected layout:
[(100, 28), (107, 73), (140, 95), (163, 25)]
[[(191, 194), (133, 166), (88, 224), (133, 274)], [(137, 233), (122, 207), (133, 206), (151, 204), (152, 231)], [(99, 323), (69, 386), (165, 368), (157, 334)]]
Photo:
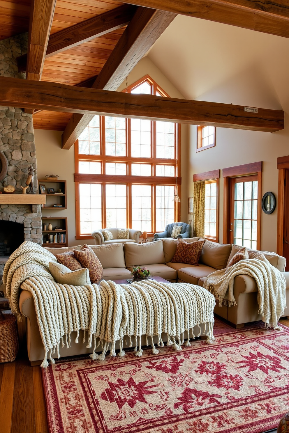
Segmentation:
[(126, 0), (126, 3), (289, 38), (288, 0)]

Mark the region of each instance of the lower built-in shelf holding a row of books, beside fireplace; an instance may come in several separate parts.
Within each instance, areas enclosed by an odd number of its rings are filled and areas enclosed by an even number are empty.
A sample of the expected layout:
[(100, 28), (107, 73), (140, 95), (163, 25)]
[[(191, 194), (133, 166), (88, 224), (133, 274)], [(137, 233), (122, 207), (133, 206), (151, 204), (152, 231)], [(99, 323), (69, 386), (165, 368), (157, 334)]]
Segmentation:
[[(67, 217), (66, 216), (42, 216), (43, 246), (62, 247), (68, 246)], [(49, 224), (52, 230), (48, 229)]]

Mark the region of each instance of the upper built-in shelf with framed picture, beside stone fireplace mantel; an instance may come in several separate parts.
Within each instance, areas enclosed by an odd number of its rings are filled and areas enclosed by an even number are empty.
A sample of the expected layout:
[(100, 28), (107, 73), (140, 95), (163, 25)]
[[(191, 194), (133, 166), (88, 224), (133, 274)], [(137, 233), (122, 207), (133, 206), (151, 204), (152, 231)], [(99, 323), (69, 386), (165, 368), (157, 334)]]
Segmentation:
[(66, 209), (66, 181), (54, 179), (39, 179), (38, 180), (39, 194), (46, 195), (46, 204), (43, 209)]

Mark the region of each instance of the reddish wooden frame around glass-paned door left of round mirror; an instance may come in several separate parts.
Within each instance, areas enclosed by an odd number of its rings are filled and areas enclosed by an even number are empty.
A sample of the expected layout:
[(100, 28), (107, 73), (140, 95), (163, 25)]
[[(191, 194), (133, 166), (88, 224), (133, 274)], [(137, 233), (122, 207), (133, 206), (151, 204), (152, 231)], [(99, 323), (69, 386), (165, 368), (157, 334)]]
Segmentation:
[(257, 174), (258, 181), (258, 207), (257, 207), (257, 249), (261, 247), (261, 191), (262, 191), (262, 161), (250, 164), (236, 165), (235, 167), (223, 168), (223, 243), (230, 243), (230, 191), (231, 179), (250, 174)]

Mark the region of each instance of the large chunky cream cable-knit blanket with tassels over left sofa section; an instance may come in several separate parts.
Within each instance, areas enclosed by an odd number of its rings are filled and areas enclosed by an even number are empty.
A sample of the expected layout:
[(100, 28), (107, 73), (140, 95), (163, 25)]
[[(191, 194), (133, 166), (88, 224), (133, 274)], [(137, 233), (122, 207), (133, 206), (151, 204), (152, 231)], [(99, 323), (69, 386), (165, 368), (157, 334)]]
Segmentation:
[[(28, 245), (29, 244), (29, 245)], [(35, 250), (33, 251), (33, 246)], [(27, 265), (27, 249), (29, 265)], [(48, 272), (49, 261), (55, 257), (47, 250), (43, 255), (42, 247), (33, 242), (24, 242), (13, 253), (14, 258), (7, 262), (3, 280), (6, 283), (6, 294), (9, 297), (14, 313), (20, 314), (18, 299), (19, 289), (29, 291), (34, 299), (36, 316), (45, 358), (42, 367), (48, 365), (47, 356), (52, 363), (52, 354), (70, 344), (70, 334), (77, 332), (75, 342), (78, 343), (79, 330), (88, 334), (87, 347), (94, 348), (92, 359), (103, 360), (110, 347), (110, 355), (115, 356), (115, 343), (120, 342), (119, 356), (124, 356), (123, 338), (128, 336), (136, 342), (135, 355), (141, 356), (140, 337), (151, 339), (153, 353), (158, 353), (153, 343), (153, 336), (158, 336), (158, 345), (163, 346), (161, 333), (166, 333), (167, 345), (181, 350), (184, 333), (187, 331), (186, 346), (189, 343), (189, 331), (198, 325), (204, 325), (207, 341), (214, 339), (214, 296), (204, 288), (186, 283), (159, 283), (153, 280), (133, 284), (116, 284), (113, 281), (101, 281), (99, 285), (71, 286), (57, 284)], [(23, 251), (23, 254), (21, 254)], [(22, 258), (23, 257), (23, 262)], [(41, 263), (41, 264), (40, 264)], [(10, 271), (11, 270), (11, 271)], [(16, 275), (11, 277), (11, 272)], [(30, 275), (29, 275), (30, 272)], [(46, 275), (49, 274), (49, 275)], [(25, 280), (25, 281), (24, 281)], [(191, 332), (191, 335), (194, 335)], [(98, 343), (102, 346), (102, 354), (95, 353)]]

